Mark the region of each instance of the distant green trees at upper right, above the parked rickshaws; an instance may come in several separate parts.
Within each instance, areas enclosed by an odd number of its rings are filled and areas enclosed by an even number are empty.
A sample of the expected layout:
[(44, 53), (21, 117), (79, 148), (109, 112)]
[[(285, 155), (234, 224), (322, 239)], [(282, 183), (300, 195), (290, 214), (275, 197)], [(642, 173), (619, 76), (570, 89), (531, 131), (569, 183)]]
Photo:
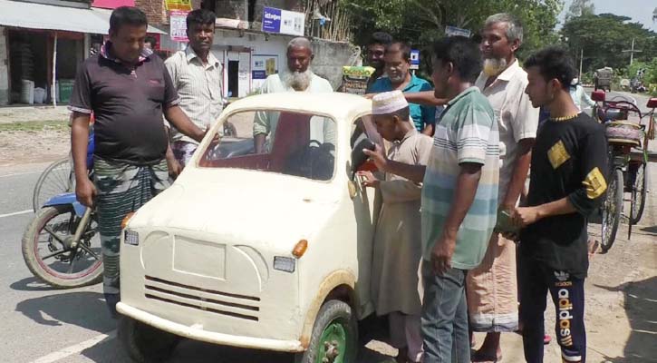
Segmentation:
[(584, 50), (585, 72), (604, 66), (626, 69), (630, 54), (623, 50), (631, 48), (632, 39), (634, 49), (643, 51), (634, 54), (634, 61), (651, 60), (657, 53), (657, 34), (630, 21), (626, 16), (612, 14), (572, 17), (565, 22), (561, 35), (577, 64)]

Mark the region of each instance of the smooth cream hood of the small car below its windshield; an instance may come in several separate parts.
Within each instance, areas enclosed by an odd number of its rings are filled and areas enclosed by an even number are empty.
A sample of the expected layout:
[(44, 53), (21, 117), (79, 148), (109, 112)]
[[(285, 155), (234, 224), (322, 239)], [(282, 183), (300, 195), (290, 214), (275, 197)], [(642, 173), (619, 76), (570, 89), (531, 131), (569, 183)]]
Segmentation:
[[(207, 232), (235, 241), (312, 237), (337, 209), (331, 183), (275, 173), (195, 170), (144, 205), (130, 228)], [(290, 240), (292, 239), (292, 240)]]

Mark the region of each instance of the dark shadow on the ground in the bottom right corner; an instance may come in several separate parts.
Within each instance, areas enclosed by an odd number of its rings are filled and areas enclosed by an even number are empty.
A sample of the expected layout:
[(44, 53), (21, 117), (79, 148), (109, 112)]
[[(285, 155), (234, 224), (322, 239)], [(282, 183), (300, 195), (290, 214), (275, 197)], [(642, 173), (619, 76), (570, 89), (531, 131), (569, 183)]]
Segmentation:
[(624, 357), (605, 358), (614, 363), (657, 362), (657, 276), (617, 287), (596, 286), (623, 292), (624, 309), (632, 328), (623, 349)]

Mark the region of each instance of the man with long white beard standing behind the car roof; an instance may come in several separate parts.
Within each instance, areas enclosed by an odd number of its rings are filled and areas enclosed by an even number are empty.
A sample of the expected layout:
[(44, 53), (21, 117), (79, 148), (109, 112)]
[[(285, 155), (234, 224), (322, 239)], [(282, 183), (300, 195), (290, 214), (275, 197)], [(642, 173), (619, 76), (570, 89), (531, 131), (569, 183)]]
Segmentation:
[[(313, 46), (304, 37), (297, 37), (287, 44), (287, 68), (280, 74), (272, 74), (267, 77), (260, 93), (280, 92), (310, 92), (331, 93), (333, 87), (324, 78), (314, 74), (310, 64), (314, 58)], [(270, 145), (274, 143), (278, 114), (270, 112), (258, 112), (253, 123), (253, 137), (256, 153), (267, 152)], [(331, 134), (334, 130), (326, 130), (333, 122), (324, 123), (324, 135)], [(328, 136), (326, 137), (328, 138)]]

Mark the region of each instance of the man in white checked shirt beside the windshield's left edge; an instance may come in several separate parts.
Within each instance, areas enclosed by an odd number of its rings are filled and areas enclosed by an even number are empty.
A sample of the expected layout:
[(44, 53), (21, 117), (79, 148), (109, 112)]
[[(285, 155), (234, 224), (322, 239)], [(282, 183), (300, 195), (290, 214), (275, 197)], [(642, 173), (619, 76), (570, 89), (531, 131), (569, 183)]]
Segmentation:
[[(221, 63), (210, 52), (215, 37), (217, 16), (198, 9), (187, 16), (187, 49), (173, 54), (165, 65), (178, 90), (179, 106), (201, 130), (217, 122), (223, 109)], [(176, 129), (170, 130), (171, 150), (184, 167), (198, 147), (198, 142)]]

